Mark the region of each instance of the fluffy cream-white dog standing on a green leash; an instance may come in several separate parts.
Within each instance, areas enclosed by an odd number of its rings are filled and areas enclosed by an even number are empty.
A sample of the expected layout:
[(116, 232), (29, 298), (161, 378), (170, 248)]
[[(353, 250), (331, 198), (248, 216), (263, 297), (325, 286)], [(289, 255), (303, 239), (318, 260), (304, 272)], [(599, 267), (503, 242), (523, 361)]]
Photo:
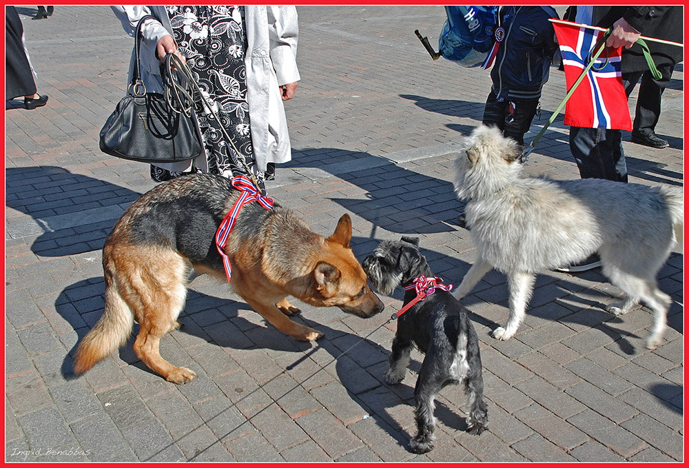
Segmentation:
[(601, 179), (552, 181), (522, 175), (522, 147), (495, 128), (476, 128), (456, 160), (455, 192), (478, 258), (453, 293), (461, 299), (495, 268), (506, 274), (509, 318), (493, 336), (517, 332), (535, 275), (597, 252), (603, 273), (626, 297), (606, 309), (626, 314), (643, 301), (654, 313), (646, 347), (662, 340), (670, 296), (657, 286), (683, 225), (683, 191)]

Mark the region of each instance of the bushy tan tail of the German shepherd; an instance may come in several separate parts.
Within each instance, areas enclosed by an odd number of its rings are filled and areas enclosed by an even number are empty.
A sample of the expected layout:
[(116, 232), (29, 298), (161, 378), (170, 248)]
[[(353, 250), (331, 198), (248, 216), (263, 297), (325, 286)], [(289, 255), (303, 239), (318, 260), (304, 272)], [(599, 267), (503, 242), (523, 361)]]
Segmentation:
[(83, 337), (74, 356), (74, 374), (82, 374), (99, 360), (109, 356), (125, 343), (134, 327), (134, 314), (120, 296), (112, 277), (105, 278), (105, 312)]

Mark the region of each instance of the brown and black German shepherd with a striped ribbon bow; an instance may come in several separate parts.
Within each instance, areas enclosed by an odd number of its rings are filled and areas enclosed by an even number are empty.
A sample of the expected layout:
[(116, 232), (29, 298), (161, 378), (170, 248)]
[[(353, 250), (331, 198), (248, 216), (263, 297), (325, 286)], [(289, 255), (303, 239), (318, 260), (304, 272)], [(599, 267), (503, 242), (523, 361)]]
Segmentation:
[[(223, 177), (193, 174), (158, 185), (127, 208), (105, 239), (105, 312), (76, 350), (75, 374), (124, 345), (136, 320), (141, 329), (134, 352), (145, 365), (174, 383), (196, 376), (163, 359), (158, 345), (180, 326), (177, 317), (194, 272), (227, 281), (215, 234), (240, 193)], [(362, 317), (384, 307), (369, 289), (350, 239), (348, 214), (325, 238), (278, 203), (271, 210), (247, 203), (225, 247), (232, 265), (229, 285), (281, 332), (317, 340), (320, 332), (288, 318), (299, 309), (287, 296)]]

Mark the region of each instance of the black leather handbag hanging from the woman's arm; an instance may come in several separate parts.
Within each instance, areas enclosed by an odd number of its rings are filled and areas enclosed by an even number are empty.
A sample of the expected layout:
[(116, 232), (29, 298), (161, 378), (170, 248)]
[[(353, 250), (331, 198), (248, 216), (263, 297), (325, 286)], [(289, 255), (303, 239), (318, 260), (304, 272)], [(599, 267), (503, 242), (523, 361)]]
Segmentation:
[(136, 25), (134, 76), (127, 96), (103, 125), (100, 147), (106, 154), (143, 163), (186, 161), (203, 152), (191, 97), (186, 106), (174, 108), (164, 94), (146, 92), (141, 80), (141, 25), (152, 18), (147, 15)]

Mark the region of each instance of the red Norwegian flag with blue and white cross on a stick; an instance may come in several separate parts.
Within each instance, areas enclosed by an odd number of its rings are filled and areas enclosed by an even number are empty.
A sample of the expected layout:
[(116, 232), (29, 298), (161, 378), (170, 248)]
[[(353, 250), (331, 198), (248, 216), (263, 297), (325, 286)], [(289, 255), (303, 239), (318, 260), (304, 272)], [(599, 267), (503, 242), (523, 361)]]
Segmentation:
[[(562, 53), (567, 89), (570, 90), (595, 53), (602, 31), (579, 23), (553, 23)], [(565, 125), (582, 128), (632, 130), (627, 96), (621, 78), (622, 48), (607, 48), (567, 101)]]

